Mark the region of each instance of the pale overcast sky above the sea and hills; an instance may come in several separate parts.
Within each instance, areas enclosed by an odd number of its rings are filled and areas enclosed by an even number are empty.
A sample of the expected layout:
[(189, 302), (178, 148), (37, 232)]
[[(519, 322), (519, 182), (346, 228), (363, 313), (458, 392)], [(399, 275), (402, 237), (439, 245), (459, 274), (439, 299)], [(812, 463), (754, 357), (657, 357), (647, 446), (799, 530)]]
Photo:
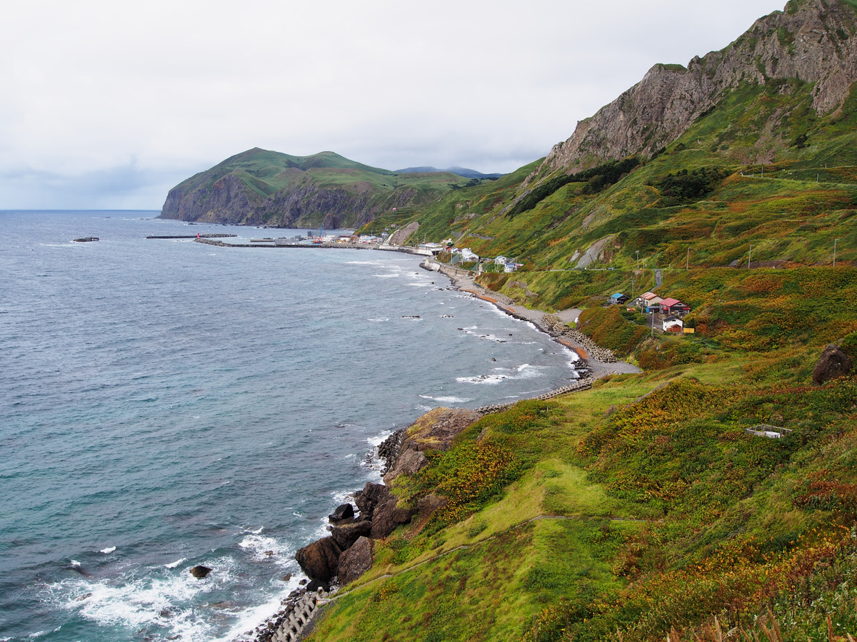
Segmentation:
[(0, 210), (159, 210), (252, 147), (508, 172), (785, 0), (34, 0), (0, 21)]

